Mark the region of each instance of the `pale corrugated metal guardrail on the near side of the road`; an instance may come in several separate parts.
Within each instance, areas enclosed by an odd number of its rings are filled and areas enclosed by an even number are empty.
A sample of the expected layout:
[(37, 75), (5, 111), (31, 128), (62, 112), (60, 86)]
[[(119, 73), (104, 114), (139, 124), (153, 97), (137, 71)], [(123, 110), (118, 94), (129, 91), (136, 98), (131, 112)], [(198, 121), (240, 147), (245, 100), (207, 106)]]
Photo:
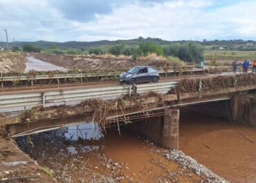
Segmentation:
[[(163, 82), (157, 84), (137, 85), (137, 93), (154, 91), (167, 93), (178, 82)], [(49, 91), (45, 93), (30, 92), (19, 94), (0, 94), (0, 109), (28, 108), (32, 106), (53, 106), (66, 104), (67, 102), (80, 102), (85, 99), (113, 99), (133, 92), (131, 86), (113, 86), (104, 88), (79, 88)]]

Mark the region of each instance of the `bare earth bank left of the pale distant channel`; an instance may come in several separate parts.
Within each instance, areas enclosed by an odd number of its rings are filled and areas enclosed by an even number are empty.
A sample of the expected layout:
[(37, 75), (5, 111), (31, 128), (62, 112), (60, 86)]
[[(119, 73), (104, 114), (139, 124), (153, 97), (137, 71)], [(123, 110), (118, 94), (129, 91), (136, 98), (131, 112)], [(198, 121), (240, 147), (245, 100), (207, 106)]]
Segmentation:
[(26, 57), (19, 52), (0, 52), (0, 72), (23, 72)]

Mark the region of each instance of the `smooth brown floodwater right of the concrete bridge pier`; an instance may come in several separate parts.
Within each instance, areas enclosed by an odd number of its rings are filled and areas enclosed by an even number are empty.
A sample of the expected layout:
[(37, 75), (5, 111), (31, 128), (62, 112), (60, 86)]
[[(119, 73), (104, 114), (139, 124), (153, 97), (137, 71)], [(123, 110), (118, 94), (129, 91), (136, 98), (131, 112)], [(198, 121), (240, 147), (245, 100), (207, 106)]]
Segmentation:
[(256, 128), (190, 110), (180, 120), (181, 151), (230, 182), (256, 182)]

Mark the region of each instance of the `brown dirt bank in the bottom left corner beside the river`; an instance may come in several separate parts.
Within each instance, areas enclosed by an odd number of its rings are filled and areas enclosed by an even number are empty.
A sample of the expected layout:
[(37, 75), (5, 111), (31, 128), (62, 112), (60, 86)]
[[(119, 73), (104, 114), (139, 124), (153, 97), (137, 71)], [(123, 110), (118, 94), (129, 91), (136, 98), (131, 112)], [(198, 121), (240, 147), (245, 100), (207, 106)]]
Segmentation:
[(0, 182), (55, 182), (10, 139), (0, 137)]

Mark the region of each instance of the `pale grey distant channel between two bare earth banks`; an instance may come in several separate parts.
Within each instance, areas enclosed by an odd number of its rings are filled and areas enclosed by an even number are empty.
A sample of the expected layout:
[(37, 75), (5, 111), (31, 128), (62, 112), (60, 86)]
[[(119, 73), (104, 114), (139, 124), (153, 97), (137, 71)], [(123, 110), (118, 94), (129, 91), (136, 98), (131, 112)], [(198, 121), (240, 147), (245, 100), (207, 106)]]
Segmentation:
[(46, 61), (35, 59), (34, 57), (26, 57), (26, 59), (28, 59), (28, 61), (26, 62), (25, 72), (28, 72), (29, 70), (35, 70), (35, 71), (67, 70), (66, 68), (55, 66)]

